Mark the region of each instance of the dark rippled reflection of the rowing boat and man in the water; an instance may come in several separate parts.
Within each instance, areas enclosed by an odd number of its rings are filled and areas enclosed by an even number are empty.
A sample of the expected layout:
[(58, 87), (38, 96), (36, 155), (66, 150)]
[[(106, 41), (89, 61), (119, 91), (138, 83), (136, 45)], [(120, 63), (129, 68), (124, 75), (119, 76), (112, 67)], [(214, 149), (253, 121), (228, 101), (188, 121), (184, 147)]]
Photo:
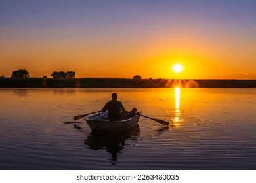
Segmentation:
[(111, 160), (117, 161), (117, 154), (122, 152), (125, 141), (138, 141), (139, 135), (140, 128), (138, 124), (125, 131), (115, 133), (95, 133), (95, 131), (91, 131), (85, 139), (85, 144), (92, 150), (106, 149), (111, 154)]

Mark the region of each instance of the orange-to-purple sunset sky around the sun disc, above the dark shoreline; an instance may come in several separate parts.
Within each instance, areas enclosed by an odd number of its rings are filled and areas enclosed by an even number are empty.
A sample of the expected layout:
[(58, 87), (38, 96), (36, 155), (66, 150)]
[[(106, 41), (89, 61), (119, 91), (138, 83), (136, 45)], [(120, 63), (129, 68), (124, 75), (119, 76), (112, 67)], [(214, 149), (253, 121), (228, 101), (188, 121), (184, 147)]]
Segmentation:
[(253, 0), (0, 0), (0, 76), (256, 79), (255, 8)]

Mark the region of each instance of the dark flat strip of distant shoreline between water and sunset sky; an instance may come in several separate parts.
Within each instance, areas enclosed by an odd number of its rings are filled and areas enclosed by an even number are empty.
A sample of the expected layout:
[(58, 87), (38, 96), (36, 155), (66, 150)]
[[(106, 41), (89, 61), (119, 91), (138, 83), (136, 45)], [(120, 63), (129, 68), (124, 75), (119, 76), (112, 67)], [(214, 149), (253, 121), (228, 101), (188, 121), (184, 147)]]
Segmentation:
[(0, 88), (256, 88), (256, 80), (0, 78)]

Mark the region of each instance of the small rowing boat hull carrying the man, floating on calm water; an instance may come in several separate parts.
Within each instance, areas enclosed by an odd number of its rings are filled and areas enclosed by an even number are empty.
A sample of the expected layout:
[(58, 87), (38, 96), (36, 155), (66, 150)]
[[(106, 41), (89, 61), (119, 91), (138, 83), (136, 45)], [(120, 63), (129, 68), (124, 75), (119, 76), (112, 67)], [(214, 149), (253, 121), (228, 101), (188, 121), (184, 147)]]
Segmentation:
[(138, 124), (140, 119), (140, 112), (135, 116), (122, 116), (120, 120), (110, 120), (108, 118), (108, 111), (99, 112), (89, 118), (85, 118), (91, 130), (98, 129), (100, 131), (117, 132), (124, 131)]

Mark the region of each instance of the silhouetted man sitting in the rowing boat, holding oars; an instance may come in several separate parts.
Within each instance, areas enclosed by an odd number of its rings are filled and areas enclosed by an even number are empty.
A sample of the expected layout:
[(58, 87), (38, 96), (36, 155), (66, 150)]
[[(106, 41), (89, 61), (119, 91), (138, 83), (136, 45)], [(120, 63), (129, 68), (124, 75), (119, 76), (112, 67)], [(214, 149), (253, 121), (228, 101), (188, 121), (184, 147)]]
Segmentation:
[(110, 120), (118, 120), (121, 118), (121, 112), (125, 112), (120, 101), (117, 101), (117, 93), (112, 93), (112, 100), (108, 101), (102, 108), (102, 111), (108, 110), (108, 118)]

